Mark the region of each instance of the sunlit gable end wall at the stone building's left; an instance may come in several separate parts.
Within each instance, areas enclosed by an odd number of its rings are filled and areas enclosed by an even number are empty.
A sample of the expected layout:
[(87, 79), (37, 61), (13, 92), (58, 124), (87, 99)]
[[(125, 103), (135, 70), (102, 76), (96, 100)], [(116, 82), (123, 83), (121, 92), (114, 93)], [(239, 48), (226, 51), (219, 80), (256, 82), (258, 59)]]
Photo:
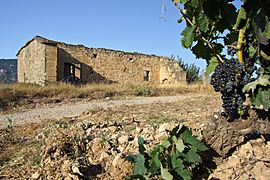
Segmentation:
[(23, 47), (18, 56), (18, 82), (44, 85), (45, 45), (37, 40)]

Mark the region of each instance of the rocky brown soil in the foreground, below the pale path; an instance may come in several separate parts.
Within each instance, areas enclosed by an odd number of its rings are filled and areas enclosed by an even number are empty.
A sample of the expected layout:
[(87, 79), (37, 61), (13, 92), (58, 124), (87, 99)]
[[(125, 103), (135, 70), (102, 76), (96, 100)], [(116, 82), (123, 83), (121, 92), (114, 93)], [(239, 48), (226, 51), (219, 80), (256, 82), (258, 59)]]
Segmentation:
[(213, 163), (209, 179), (268, 179), (269, 119), (227, 123), (219, 116), (220, 107), (215, 94), (189, 95), (177, 101), (95, 106), (75, 117), (20, 126), (5, 124), (0, 179), (125, 179), (132, 173), (126, 157), (138, 153), (138, 137), (151, 149), (178, 124), (210, 147), (205, 158)]

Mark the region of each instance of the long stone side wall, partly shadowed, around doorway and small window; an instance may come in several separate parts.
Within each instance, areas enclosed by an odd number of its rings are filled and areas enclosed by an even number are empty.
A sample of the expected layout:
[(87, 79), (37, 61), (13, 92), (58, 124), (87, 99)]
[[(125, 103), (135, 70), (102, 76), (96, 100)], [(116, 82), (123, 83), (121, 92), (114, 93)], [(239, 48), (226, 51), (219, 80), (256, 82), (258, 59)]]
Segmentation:
[[(64, 63), (80, 64), (83, 82), (144, 82), (144, 71), (150, 71), (149, 82), (160, 83), (160, 57), (125, 53), (108, 49), (58, 44), (59, 78)], [(62, 69), (62, 70), (61, 70)]]

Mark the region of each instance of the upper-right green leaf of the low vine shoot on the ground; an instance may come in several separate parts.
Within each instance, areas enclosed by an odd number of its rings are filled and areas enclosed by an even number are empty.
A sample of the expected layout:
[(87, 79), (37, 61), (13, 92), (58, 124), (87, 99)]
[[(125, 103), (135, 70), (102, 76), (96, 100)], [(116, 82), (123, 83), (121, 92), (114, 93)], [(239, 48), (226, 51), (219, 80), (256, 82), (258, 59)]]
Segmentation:
[(187, 129), (181, 136), (185, 143), (192, 145), (192, 147), (195, 147), (197, 150), (208, 150), (208, 148), (199, 139), (192, 135), (190, 130)]

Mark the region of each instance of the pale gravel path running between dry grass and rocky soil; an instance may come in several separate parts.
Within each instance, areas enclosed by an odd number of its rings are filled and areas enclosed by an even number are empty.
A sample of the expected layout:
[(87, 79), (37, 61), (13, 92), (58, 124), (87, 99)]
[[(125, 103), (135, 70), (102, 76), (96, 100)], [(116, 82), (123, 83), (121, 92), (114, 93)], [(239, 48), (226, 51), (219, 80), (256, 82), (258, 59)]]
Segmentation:
[(164, 97), (136, 97), (125, 100), (95, 100), (90, 102), (76, 102), (54, 107), (42, 107), (27, 110), (25, 112), (0, 115), (0, 127), (12, 120), (14, 125), (25, 123), (40, 122), (46, 119), (60, 119), (63, 117), (79, 116), (87, 110), (94, 108), (107, 109), (115, 106), (133, 106), (153, 103), (171, 103), (187, 98), (206, 96), (206, 94), (187, 94), (182, 96), (164, 96)]

